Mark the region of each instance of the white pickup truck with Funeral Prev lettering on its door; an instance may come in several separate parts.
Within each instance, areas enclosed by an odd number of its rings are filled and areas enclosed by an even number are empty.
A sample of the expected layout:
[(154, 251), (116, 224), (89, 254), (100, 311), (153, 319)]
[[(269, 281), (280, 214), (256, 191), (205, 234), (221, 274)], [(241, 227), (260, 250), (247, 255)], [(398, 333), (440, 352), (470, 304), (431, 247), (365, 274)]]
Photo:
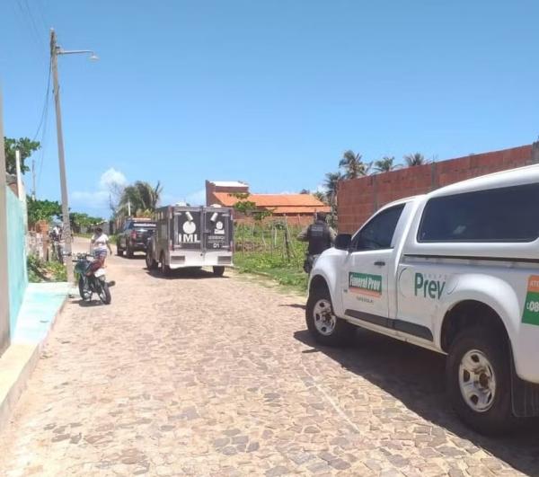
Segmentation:
[(324, 345), (360, 326), (446, 354), (450, 401), (482, 433), (539, 415), (539, 165), (398, 200), (338, 235), (306, 322)]

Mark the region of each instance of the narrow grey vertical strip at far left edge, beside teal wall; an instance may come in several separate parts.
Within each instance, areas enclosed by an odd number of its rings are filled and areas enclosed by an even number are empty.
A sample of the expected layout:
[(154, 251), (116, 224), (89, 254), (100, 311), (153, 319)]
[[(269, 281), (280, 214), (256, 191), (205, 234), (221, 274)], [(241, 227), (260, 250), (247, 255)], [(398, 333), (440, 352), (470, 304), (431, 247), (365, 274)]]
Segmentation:
[(7, 272), (7, 203), (4, 155), (4, 123), (0, 91), (0, 355), (9, 346), (9, 281)]

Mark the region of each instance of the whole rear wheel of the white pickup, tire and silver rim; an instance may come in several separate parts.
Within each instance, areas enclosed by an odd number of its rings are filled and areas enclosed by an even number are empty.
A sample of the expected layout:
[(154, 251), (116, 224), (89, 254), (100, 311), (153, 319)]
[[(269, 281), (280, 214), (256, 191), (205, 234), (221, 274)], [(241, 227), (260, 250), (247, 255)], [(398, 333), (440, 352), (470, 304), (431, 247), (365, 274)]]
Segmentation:
[(512, 427), (508, 343), (484, 327), (461, 331), (446, 362), (446, 385), (456, 414), (481, 434)]

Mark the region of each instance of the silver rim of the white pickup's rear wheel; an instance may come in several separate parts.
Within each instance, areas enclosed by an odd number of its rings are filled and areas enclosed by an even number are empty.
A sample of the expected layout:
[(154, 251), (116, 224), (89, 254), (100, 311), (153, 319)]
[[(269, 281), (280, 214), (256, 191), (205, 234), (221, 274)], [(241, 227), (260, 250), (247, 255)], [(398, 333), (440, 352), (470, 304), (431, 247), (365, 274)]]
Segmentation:
[(489, 411), (496, 396), (496, 375), (489, 358), (479, 349), (467, 351), (458, 369), (464, 402), (475, 412)]

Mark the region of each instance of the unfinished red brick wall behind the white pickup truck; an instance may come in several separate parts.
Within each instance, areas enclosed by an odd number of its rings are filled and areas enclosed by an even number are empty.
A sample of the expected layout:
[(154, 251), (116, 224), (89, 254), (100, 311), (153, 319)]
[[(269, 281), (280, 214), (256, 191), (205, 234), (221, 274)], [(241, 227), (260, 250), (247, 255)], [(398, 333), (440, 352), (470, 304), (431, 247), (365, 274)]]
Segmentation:
[(341, 181), (337, 194), (339, 232), (354, 233), (373, 212), (393, 200), (537, 162), (539, 143)]

